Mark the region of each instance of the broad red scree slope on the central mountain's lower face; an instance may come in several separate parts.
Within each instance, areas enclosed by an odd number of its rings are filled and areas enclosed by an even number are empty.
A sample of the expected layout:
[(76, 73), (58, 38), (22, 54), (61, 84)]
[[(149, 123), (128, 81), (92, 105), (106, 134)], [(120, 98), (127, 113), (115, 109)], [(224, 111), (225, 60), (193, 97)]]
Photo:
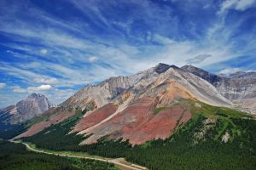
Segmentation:
[(129, 105), (124, 111), (113, 116), (107, 122), (84, 130), (81, 133), (93, 133), (83, 144), (95, 143), (97, 139), (108, 135), (110, 139), (130, 139), (131, 144), (143, 144), (151, 139), (168, 138), (177, 124), (187, 122), (191, 115), (184, 108), (173, 106), (154, 113), (157, 99), (143, 98)]

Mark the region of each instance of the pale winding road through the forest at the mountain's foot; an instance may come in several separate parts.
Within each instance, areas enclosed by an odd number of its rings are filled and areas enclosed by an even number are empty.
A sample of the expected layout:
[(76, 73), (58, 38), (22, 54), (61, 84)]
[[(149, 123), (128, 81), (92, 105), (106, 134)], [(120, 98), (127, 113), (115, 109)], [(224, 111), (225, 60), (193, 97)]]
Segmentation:
[(26, 144), (20, 141), (14, 141), (10, 140), (10, 142), (14, 143), (20, 143), (25, 144), (27, 150), (31, 150), (38, 153), (44, 153), (49, 155), (55, 155), (55, 156), (65, 156), (65, 157), (73, 157), (73, 158), (81, 158), (81, 159), (90, 159), (90, 160), (96, 160), (96, 161), (105, 161), (109, 163), (113, 163), (116, 167), (119, 167), (121, 170), (148, 170), (147, 167), (138, 166), (136, 164), (130, 163), (128, 161), (125, 161), (124, 158), (116, 158), (116, 159), (107, 159), (107, 158), (95, 158), (95, 157), (89, 157), (89, 156), (78, 156), (74, 153), (69, 154), (57, 154), (46, 150), (38, 150), (36, 148), (33, 148), (30, 144)]

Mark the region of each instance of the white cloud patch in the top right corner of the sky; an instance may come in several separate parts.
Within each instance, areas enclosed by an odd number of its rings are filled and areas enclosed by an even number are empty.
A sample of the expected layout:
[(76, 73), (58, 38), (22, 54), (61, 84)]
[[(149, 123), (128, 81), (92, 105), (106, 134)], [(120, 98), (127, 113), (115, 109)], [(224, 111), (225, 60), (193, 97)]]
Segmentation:
[(223, 14), (224, 11), (231, 8), (244, 11), (247, 8), (253, 7), (255, 2), (256, 2), (255, 0), (225, 0), (224, 3), (221, 4), (218, 14)]

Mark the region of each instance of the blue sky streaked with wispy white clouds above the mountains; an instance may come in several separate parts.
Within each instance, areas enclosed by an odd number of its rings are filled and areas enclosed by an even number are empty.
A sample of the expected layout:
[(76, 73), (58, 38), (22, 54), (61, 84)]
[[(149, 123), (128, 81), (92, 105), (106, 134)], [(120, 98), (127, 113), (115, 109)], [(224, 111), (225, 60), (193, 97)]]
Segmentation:
[(256, 0), (1, 0), (0, 108), (160, 62), (256, 70)]

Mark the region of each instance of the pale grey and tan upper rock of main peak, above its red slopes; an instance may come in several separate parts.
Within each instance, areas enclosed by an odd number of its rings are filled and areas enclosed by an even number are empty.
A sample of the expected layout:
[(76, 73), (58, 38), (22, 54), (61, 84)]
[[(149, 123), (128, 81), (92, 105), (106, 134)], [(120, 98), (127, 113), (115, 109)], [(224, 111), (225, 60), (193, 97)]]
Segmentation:
[(123, 95), (133, 95), (133, 100), (136, 100), (141, 95), (154, 94), (152, 89), (157, 90), (160, 85), (167, 87), (166, 84), (170, 81), (177, 82), (191, 91), (193, 97), (209, 104), (231, 105), (230, 101), (218, 94), (216, 89), (207, 81), (183, 71), (175, 65), (161, 63), (130, 77), (111, 77), (99, 85), (82, 88), (62, 105), (84, 109), (88, 103), (93, 103), (96, 108), (99, 108), (109, 102), (122, 103), (124, 100), (122, 97), (125, 97)]

